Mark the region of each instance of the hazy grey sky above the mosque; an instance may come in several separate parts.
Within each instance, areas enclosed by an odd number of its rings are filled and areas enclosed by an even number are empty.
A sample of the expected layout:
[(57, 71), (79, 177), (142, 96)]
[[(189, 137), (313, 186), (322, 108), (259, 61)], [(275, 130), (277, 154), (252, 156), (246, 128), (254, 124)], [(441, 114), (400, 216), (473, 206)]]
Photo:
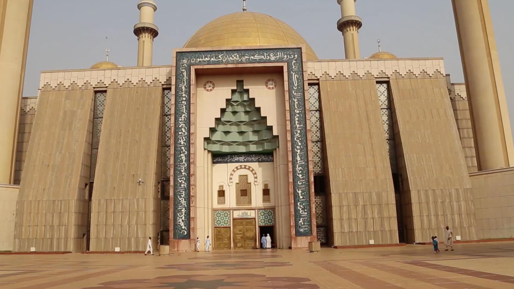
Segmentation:
[[(139, 21), (138, 0), (35, 0), (25, 78), (25, 96), (37, 95), (41, 70), (89, 68), (105, 60), (135, 66)], [(241, 0), (155, 0), (155, 65), (172, 61), (173, 48), (182, 47), (201, 26), (218, 16), (241, 11)], [(336, 0), (247, 0), (248, 10), (266, 13), (289, 24), (307, 40), (320, 59), (344, 58), (343, 39), (336, 23), (341, 17)], [(362, 18), (361, 56), (382, 50), (397, 57), (443, 57), (452, 82), (463, 82), (461, 57), (450, 0), (359, 0)], [(490, 0), (494, 33), (514, 125), (514, 1)], [(108, 37), (106, 40), (105, 37)], [(513, 127), (514, 129), (514, 127)]]

